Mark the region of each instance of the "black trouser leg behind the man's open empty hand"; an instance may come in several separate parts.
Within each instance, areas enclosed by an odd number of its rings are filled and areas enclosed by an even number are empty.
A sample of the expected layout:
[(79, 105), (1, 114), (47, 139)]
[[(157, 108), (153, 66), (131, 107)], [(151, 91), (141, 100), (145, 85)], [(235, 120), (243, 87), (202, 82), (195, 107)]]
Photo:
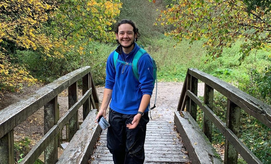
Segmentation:
[[(124, 115), (125, 124), (132, 122), (135, 115)], [(141, 117), (135, 129), (126, 128), (126, 157), (125, 164), (143, 164), (145, 160), (144, 143), (146, 137), (146, 125), (149, 122), (148, 112)]]

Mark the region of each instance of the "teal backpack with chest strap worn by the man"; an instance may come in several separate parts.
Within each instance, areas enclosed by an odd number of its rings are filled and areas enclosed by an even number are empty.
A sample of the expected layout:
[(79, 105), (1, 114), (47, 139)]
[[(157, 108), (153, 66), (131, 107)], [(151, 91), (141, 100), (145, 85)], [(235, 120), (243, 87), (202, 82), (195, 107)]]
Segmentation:
[[(147, 53), (146, 50), (144, 50), (143, 48), (140, 48), (140, 49), (137, 51), (137, 53), (135, 54), (132, 63), (128, 63), (128, 62), (124, 62), (124, 61), (118, 60), (118, 55), (119, 55), (119, 54), (115, 51), (115, 52), (114, 52), (114, 55), (113, 55), (115, 70), (116, 70), (117, 62), (120, 62), (120, 63), (122, 63), (122, 64), (124, 64), (124, 65), (130, 65), (130, 66), (132, 66), (132, 68), (133, 68), (133, 74), (134, 74), (135, 78), (136, 78), (137, 80), (139, 80), (139, 74), (138, 74), (137, 63), (138, 63), (138, 60), (140, 59), (140, 57), (141, 57), (143, 54), (145, 54), (145, 53)], [(150, 57), (151, 57), (151, 56), (150, 56)], [(153, 60), (152, 57), (151, 57), (151, 60), (152, 60), (152, 64), (153, 64), (153, 79), (154, 79), (153, 85), (154, 85), (154, 83), (155, 83), (155, 81), (156, 81), (156, 94), (155, 94), (154, 105), (153, 105), (152, 108), (150, 108), (150, 110), (152, 110), (152, 109), (154, 109), (154, 108), (156, 107), (155, 104), (156, 104), (156, 98), (157, 98), (157, 66), (156, 66), (155, 60)]]

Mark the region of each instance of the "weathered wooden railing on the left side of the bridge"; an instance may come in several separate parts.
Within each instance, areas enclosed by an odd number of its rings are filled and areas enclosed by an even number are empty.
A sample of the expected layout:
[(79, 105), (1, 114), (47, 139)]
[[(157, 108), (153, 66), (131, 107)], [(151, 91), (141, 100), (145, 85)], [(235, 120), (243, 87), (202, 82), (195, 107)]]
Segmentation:
[[(78, 80), (82, 79), (83, 96), (78, 100)], [(59, 119), (57, 95), (68, 88), (69, 110)], [(44, 151), (45, 163), (57, 162), (60, 130), (68, 123), (68, 139), (79, 129), (78, 109), (83, 105), (83, 120), (99, 99), (89, 66), (75, 70), (44, 86), (28, 98), (0, 111), (0, 163), (14, 163), (14, 128), (44, 106), (44, 136), (20, 163), (34, 163)]]

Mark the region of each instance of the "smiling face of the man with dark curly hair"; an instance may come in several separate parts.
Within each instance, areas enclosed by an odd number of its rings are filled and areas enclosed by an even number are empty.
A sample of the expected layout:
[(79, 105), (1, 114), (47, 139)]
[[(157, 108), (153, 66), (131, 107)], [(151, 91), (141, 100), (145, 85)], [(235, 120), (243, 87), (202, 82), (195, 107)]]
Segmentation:
[(124, 48), (130, 48), (134, 44), (135, 34), (133, 26), (130, 24), (121, 24), (118, 27), (118, 34), (116, 34), (117, 40)]

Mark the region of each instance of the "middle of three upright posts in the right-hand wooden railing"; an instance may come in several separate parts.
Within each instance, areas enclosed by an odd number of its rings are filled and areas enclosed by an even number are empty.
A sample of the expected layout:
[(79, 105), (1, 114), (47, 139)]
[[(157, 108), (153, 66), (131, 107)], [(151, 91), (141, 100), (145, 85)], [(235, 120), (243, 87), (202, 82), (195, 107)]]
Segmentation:
[[(205, 83), (204, 88), (204, 104), (207, 105), (211, 110), (213, 110), (214, 101), (214, 88)], [(203, 113), (203, 128), (205, 136), (212, 142), (212, 121)]]

